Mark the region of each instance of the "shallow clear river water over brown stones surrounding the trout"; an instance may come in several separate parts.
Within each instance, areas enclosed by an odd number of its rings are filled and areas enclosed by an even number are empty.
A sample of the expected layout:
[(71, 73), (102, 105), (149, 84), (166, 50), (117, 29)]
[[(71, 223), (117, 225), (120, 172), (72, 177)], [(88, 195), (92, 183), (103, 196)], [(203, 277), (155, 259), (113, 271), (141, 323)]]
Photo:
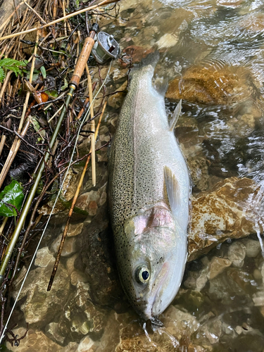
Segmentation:
[[(127, 303), (115, 268), (106, 206), (107, 151), (98, 153), (51, 292), (46, 291), (66, 211), (54, 215), (11, 322), (27, 337), (11, 351), (264, 351), (264, 5), (261, 0), (122, 0), (101, 30), (124, 60), (158, 48), (171, 117), (192, 178), (189, 262), (182, 286), (151, 329)], [(134, 49), (134, 51), (132, 51)], [(128, 62), (128, 61), (127, 61)], [(108, 64), (101, 68), (106, 75)], [(94, 77), (96, 72), (94, 70)], [(127, 68), (113, 62), (98, 146), (115, 132)], [(85, 141), (82, 148), (88, 148)], [(25, 275), (21, 271), (17, 280)], [(14, 294), (15, 296), (15, 294)]]

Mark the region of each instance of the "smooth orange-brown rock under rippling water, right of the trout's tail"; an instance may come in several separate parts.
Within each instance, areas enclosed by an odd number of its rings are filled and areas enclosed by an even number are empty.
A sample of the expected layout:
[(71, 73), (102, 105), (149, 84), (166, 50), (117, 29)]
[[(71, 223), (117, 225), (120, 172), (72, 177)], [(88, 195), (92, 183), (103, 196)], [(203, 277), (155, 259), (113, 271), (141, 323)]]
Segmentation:
[(201, 65), (188, 68), (182, 77), (172, 80), (165, 96), (191, 103), (238, 103), (251, 95), (248, 76), (249, 72), (244, 68), (205, 61)]

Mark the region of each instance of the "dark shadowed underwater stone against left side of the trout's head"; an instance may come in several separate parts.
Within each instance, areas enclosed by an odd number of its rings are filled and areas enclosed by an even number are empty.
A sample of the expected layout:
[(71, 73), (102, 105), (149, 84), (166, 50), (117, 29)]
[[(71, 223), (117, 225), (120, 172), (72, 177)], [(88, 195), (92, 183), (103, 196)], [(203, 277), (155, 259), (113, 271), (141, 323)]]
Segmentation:
[(106, 205), (84, 227), (78, 236), (77, 248), (80, 255), (75, 260), (75, 267), (87, 275), (94, 303), (101, 306), (122, 306), (125, 297), (115, 267), (113, 237)]

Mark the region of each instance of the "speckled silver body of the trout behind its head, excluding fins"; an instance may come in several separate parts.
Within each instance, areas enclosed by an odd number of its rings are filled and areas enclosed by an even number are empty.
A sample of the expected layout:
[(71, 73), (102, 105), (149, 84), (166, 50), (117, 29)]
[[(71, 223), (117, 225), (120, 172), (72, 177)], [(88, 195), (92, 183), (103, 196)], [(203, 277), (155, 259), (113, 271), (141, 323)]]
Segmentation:
[[(153, 87), (152, 76), (151, 66), (134, 73), (111, 148), (109, 199), (114, 232), (139, 209), (166, 201), (165, 165), (179, 182), (183, 180), (182, 193), (189, 191), (189, 180), (184, 181), (187, 166), (169, 131), (164, 98)], [(188, 213), (188, 202), (184, 211)]]

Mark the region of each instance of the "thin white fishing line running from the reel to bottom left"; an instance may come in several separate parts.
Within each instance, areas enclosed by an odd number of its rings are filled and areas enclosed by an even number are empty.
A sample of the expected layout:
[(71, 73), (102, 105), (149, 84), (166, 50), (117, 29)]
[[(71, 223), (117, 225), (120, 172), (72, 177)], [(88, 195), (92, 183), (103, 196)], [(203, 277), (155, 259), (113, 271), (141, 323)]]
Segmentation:
[[(111, 70), (112, 62), (113, 62), (113, 60), (111, 61), (110, 65), (109, 65), (108, 72), (107, 72), (107, 74), (106, 74), (106, 78), (103, 80), (103, 84), (101, 85), (101, 87), (99, 88), (99, 91), (98, 91), (98, 92), (96, 93), (96, 95), (94, 96), (94, 99), (92, 100), (92, 103), (94, 103), (96, 97), (97, 97), (98, 94), (101, 92), (101, 89), (103, 88), (104, 84), (106, 83), (108, 74), (109, 74), (109, 72), (110, 72), (110, 70)], [(3, 329), (3, 332), (2, 332), (1, 337), (0, 337), (0, 344), (1, 344), (1, 341), (2, 341), (2, 339), (3, 339), (3, 337), (4, 337), (4, 333), (5, 333), (5, 331), (6, 331), (6, 327), (7, 327), (7, 325), (8, 325), (8, 322), (9, 322), (10, 318), (11, 318), (11, 315), (13, 314), (13, 310), (15, 309), (15, 305), (16, 305), (16, 303), (18, 302), (18, 298), (19, 298), (20, 293), (21, 293), (21, 291), (22, 291), (22, 289), (23, 289), (23, 286), (24, 286), (24, 284), (25, 284), (25, 280), (27, 279), (27, 275), (28, 275), (28, 273), (30, 272), (30, 268), (31, 268), (31, 266), (32, 266), (32, 264), (33, 264), (34, 257), (35, 257), (36, 254), (37, 254), (37, 251), (38, 251), (38, 249), (39, 249), (39, 246), (40, 246), (40, 244), (41, 244), (41, 241), (42, 241), (42, 239), (43, 239), (43, 237), (44, 237), (44, 233), (45, 233), (45, 231), (46, 231), (46, 228), (47, 228), (48, 225), (49, 225), (49, 220), (51, 219), (51, 215), (52, 215), (52, 213), (53, 213), (53, 211), (54, 211), (54, 208), (55, 208), (55, 206), (56, 206), (56, 203), (57, 203), (57, 201), (58, 201), (58, 197), (60, 196), (61, 190), (63, 189), (63, 184), (64, 184), (64, 182), (65, 182), (65, 179), (66, 179), (67, 175), (68, 175), (68, 171), (70, 170), (70, 165), (71, 165), (71, 163), (72, 163), (72, 161), (73, 161), (73, 156), (74, 156), (75, 149), (76, 149), (76, 146), (77, 146), (77, 140), (78, 140), (78, 137), (79, 137), (80, 132), (81, 132), (81, 130), (82, 130), (82, 125), (84, 124), (84, 122), (85, 122), (85, 120), (86, 120), (86, 118), (87, 118), (87, 116), (88, 116), (88, 114), (89, 114), (89, 111), (90, 111), (90, 108), (91, 108), (92, 103), (89, 104), (89, 108), (88, 108), (87, 112), (85, 113), (84, 118), (82, 119), (82, 122), (81, 122), (81, 124), (80, 124), (79, 130), (78, 130), (78, 132), (77, 132), (77, 137), (76, 137), (76, 140), (75, 140), (75, 145), (74, 145), (74, 147), (73, 147), (73, 153), (72, 153), (72, 155), (70, 156), (70, 162), (69, 162), (68, 168), (67, 168), (67, 170), (66, 170), (66, 172), (65, 172), (65, 176), (64, 176), (64, 178), (63, 178), (63, 182), (62, 182), (62, 184), (61, 184), (61, 188), (60, 188), (59, 191), (58, 191), (58, 194), (57, 194), (57, 196), (56, 196), (56, 200), (55, 200), (54, 206), (53, 206), (52, 209), (51, 209), (51, 213), (50, 213), (50, 215), (49, 215), (48, 221), (46, 222), (46, 225), (45, 225), (44, 230), (43, 230), (43, 232), (42, 232), (42, 236), (41, 236), (40, 239), (39, 239), (39, 243), (37, 244), (37, 248), (36, 248), (36, 250), (34, 251), (34, 254), (33, 254), (33, 256), (32, 256), (32, 260), (31, 260), (31, 262), (30, 262), (30, 265), (29, 265), (29, 267), (28, 267), (28, 269), (27, 269), (27, 272), (25, 273), (25, 277), (24, 277), (23, 282), (22, 282), (22, 284), (21, 284), (21, 287), (20, 287), (20, 289), (19, 289), (19, 291), (18, 291), (18, 296), (16, 296), (15, 302), (14, 302), (14, 304), (13, 304), (13, 307), (11, 308), (11, 312), (9, 313), (8, 319), (6, 320), (6, 325), (5, 325), (4, 329)]]

